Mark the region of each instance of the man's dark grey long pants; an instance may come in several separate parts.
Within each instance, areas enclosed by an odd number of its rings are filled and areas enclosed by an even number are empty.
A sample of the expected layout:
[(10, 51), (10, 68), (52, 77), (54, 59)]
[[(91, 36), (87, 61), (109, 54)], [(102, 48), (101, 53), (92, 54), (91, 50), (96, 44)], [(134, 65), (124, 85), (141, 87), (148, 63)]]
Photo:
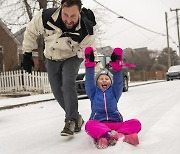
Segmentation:
[(55, 99), (66, 113), (66, 121), (76, 120), (79, 116), (76, 77), (82, 61), (83, 59), (77, 56), (64, 61), (46, 59), (51, 89)]

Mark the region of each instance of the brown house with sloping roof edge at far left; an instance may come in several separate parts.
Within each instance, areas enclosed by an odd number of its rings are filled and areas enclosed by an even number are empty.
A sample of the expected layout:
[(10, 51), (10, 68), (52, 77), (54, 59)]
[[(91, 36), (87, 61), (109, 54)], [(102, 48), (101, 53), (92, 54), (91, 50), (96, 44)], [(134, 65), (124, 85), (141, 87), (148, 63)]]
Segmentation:
[(0, 19), (0, 72), (18, 68), (19, 42)]

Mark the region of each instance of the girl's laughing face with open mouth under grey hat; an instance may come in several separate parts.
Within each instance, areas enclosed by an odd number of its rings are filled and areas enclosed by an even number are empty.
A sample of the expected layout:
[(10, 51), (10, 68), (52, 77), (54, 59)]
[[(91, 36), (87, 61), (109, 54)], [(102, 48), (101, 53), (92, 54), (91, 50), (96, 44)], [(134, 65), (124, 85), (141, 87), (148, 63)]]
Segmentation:
[(111, 85), (111, 79), (108, 75), (102, 74), (99, 76), (97, 80), (97, 86), (102, 90), (105, 91)]

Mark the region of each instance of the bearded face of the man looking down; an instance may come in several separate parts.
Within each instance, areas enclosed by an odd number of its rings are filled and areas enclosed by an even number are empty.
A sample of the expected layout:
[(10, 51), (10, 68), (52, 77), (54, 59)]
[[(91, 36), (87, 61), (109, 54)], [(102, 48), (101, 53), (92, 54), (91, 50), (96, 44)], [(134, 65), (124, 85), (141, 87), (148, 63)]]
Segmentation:
[(63, 7), (61, 16), (67, 29), (72, 29), (79, 20), (80, 11), (77, 5)]

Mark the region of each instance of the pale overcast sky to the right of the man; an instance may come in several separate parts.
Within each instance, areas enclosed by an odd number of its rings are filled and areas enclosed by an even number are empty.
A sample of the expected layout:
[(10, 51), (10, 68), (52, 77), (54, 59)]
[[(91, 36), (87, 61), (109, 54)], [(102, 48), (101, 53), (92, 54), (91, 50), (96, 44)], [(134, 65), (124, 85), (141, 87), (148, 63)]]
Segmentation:
[[(170, 11), (170, 8), (180, 9), (180, 0), (97, 0), (97, 2), (136, 24), (162, 34), (166, 34), (165, 12), (167, 12), (169, 35), (172, 38), (169, 41), (170, 47), (179, 53), (177, 48), (176, 12)], [(94, 0), (83, 0), (83, 4), (85, 7), (92, 9), (101, 8)], [(178, 14), (180, 16), (180, 11)], [(104, 24), (103, 26), (103, 29), (106, 31), (105, 35), (103, 35), (103, 46), (110, 45), (122, 48), (148, 47), (148, 49), (158, 50), (167, 47), (166, 36), (134, 26), (124, 19), (117, 18), (117, 15), (110, 11), (107, 11), (105, 16), (112, 24)], [(176, 43), (173, 43), (173, 41)]]

